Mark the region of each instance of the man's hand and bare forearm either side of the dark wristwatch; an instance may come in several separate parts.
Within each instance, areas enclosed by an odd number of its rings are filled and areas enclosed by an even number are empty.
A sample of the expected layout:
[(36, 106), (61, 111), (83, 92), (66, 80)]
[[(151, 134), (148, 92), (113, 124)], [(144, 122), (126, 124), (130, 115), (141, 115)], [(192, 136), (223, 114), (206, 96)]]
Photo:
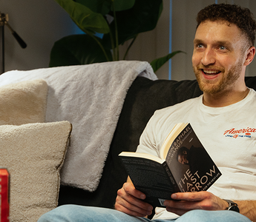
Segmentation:
[[(191, 209), (225, 210), (229, 203), (218, 198), (211, 192), (179, 192), (171, 195), (176, 201), (165, 201), (166, 209), (177, 215), (183, 215)], [(256, 201), (235, 201), (240, 214), (251, 221), (256, 221)]]

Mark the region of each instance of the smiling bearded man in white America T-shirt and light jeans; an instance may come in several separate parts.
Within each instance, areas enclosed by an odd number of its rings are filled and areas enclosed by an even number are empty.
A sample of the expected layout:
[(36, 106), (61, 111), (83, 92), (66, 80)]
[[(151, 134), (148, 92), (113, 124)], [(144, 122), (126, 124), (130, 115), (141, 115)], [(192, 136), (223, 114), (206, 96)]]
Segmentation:
[[(236, 5), (213, 4), (198, 13), (192, 64), (203, 95), (155, 112), (137, 152), (157, 155), (174, 124), (189, 122), (222, 176), (207, 192), (172, 194), (152, 221), (256, 221), (256, 135), (232, 137), (234, 129), (255, 127), (256, 92), (244, 82), (255, 29), (249, 10)], [(153, 210), (144, 199), (128, 180), (117, 192), (116, 210), (61, 206), (39, 221), (151, 221), (143, 218)], [(240, 213), (227, 210), (237, 206)]]

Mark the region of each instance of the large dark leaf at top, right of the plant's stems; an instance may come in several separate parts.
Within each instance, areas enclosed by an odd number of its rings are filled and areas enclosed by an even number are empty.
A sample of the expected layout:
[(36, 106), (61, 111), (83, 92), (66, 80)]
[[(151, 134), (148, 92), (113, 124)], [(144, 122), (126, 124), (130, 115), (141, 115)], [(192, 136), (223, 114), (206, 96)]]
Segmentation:
[[(134, 38), (138, 33), (154, 30), (163, 10), (163, 0), (136, 0), (130, 10), (116, 12), (119, 44)], [(114, 22), (110, 24), (111, 32), (115, 32)], [(110, 34), (105, 34), (103, 41), (107, 45)], [(111, 48), (111, 44), (108, 44)]]

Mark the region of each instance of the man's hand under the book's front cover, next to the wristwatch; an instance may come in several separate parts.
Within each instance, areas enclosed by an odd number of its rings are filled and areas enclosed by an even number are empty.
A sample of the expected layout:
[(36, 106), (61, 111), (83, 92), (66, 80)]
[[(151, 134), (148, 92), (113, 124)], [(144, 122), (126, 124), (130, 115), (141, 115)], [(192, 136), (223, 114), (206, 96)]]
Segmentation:
[(175, 201), (165, 201), (166, 210), (183, 215), (191, 209), (222, 210), (229, 206), (211, 192), (178, 192), (171, 195)]

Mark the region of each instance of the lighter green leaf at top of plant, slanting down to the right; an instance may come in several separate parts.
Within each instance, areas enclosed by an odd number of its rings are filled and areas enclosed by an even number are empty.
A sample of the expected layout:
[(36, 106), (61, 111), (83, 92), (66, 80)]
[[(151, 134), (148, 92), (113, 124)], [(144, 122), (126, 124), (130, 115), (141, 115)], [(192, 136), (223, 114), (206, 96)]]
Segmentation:
[[(108, 22), (100, 13), (94, 13), (85, 5), (73, 0), (55, 0), (85, 33), (108, 33)], [(93, 0), (94, 1), (94, 0)]]

